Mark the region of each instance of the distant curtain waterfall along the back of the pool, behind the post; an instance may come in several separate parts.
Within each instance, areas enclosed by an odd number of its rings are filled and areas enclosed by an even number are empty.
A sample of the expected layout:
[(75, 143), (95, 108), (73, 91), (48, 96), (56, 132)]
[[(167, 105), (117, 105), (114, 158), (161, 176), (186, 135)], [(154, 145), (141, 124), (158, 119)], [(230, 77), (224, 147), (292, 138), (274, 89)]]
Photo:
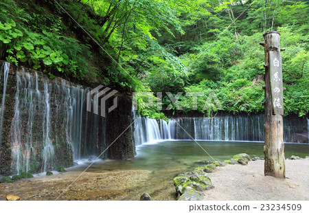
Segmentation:
[[(285, 117), (284, 142), (308, 143), (308, 126), (308, 120), (299, 122), (296, 118)], [(136, 145), (167, 139), (263, 142), (264, 115), (178, 117), (171, 118), (168, 123), (137, 117), (134, 137)]]

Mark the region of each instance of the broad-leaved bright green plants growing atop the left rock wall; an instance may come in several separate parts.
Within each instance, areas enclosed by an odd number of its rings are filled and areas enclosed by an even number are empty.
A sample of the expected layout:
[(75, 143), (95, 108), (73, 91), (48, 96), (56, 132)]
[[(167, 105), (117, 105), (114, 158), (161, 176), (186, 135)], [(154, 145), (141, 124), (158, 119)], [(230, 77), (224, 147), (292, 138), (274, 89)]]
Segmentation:
[[(16, 7), (14, 1), (7, 1), (7, 5), (8, 8)], [(31, 25), (32, 29), (39, 31), (34, 32), (34, 30), (27, 30), (23, 23), (29, 19), (30, 23), (33, 23), (31, 21), (34, 18), (43, 14), (34, 13), (34, 17), (23, 14), (28, 19), (21, 19), (23, 16), (16, 12), (9, 16), (19, 19), (20, 23), (17, 25), (16, 21), (10, 18), (5, 19), (5, 22), (0, 21), (0, 47), (7, 52), (6, 60), (16, 65), (25, 63), (34, 69), (41, 68), (50, 76), (53, 76), (52, 72), (60, 71), (68, 76), (84, 79), (89, 70), (87, 58), (91, 59), (89, 47), (78, 43), (74, 38), (62, 36), (60, 19), (49, 19), (54, 21), (50, 27), (45, 26), (46, 22), (40, 27), (36, 27), (38, 23)], [(50, 16), (47, 15), (47, 17)]]

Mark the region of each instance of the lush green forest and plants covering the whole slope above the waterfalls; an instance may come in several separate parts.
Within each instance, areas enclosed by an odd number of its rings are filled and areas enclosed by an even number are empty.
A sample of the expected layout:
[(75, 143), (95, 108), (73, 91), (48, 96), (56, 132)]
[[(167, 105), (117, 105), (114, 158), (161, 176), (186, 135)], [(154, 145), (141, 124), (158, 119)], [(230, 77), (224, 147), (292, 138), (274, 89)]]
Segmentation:
[[(164, 117), (161, 109), (170, 104), (174, 113), (179, 107), (192, 111), (194, 101), (208, 116), (218, 110), (258, 113), (264, 109), (264, 51), (258, 43), (264, 32), (277, 30), (286, 49), (285, 113), (308, 114), (306, 1), (57, 2), (61, 7), (48, 0), (2, 0), (0, 58), (51, 78), (150, 92), (137, 97), (139, 113), (150, 117)], [(178, 106), (166, 92), (183, 92)], [(190, 92), (201, 96), (194, 100), (185, 94)]]

